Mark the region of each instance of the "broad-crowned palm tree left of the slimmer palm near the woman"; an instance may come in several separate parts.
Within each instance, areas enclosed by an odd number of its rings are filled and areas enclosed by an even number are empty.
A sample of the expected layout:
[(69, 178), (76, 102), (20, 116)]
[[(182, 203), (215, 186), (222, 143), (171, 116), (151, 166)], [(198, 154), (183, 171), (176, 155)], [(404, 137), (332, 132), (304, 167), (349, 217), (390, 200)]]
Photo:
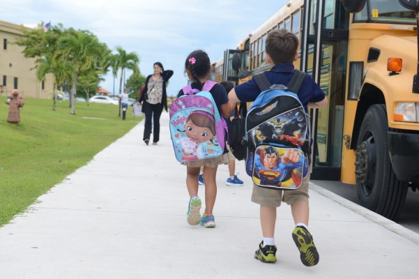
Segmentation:
[(73, 65), (73, 86), (70, 93), (71, 114), (75, 114), (77, 78), (84, 72), (100, 68), (107, 46), (89, 31), (68, 29), (57, 42), (55, 60), (67, 61)]

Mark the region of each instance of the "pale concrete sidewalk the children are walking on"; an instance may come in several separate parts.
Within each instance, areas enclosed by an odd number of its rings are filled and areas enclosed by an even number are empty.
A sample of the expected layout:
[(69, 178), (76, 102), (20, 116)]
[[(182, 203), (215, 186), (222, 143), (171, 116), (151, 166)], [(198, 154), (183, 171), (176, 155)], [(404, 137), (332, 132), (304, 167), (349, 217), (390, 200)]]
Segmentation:
[(245, 186), (225, 186), (228, 168), (219, 167), (217, 227), (188, 225), (186, 171), (168, 119), (163, 112), (158, 146), (142, 142), (139, 123), (1, 227), (0, 278), (418, 278), (418, 234), (314, 184), (319, 264), (301, 264), (286, 205), (277, 211), (277, 262), (254, 259), (259, 206), (243, 162)]

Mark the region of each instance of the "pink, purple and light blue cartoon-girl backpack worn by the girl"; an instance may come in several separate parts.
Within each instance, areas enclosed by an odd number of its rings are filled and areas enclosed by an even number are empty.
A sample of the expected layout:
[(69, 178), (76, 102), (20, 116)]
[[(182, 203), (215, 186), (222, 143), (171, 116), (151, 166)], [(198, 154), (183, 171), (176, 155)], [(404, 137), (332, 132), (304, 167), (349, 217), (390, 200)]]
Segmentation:
[(179, 162), (215, 158), (224, 153), (227, 123), (209, 92), (215, 84), (207, 80), (202, 91), (189, 84), (182, 89), (185, 95), (170, 106), (170, 135)]

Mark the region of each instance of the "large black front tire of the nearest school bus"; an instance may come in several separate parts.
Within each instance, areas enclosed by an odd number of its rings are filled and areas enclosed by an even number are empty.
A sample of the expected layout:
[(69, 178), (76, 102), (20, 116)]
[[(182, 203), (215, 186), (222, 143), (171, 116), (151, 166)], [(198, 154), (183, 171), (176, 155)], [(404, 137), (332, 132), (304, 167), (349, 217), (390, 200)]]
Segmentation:
[(372, 105), (361, 124), (356, 148), (356, 193), (360, 204), (390, 220), (399, 217), (407, 183), (399, 181), (387, 148), (385, 105)]

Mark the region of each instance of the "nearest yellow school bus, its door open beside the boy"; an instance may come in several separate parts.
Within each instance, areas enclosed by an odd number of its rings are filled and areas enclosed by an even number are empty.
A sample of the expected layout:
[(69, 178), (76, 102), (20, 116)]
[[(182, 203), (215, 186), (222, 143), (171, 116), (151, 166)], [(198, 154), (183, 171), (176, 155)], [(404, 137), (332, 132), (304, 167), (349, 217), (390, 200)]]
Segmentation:
[(416, 5), (289, 1), (250, 33), (248, 68), (236, 75), (248, 80), (269, 70), (269, 32), (296, 33), (295, 66), (312, 75), (329, 100), (327, 107), (310, 111), (311, 178), (356, 185), (360, 204), (390, 219), (399, 215), (409, 187), (419, 188)]

